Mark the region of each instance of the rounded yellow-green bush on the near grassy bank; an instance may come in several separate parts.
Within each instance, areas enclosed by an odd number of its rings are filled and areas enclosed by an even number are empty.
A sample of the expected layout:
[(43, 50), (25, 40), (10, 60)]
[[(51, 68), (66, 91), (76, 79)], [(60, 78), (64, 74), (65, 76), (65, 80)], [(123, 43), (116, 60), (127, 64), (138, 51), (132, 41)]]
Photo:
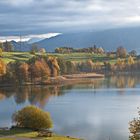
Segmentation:
[(34, 130), (48, 129), (52, 127), (50, 114), (35, 106), (27, 106), (16, 112), (13, 115), (13, 122), (17, 127)]

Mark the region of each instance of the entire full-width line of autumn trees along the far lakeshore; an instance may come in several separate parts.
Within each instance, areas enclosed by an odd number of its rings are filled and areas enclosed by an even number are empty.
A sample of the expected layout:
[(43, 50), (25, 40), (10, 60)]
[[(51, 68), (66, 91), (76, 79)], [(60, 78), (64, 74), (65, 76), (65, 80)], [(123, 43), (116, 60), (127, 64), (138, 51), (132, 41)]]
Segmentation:
[(5, 64), (0, 59), (0, 80), (2, 83), (24, 83), (40, 82), (63, 74), (74, 74), (83, 72), (118, 73), (139, 72), (140, 61), (134, 57), (127, 59), (118, 58), (115, 64), (109, 61), (94, 62), (92, 59), (86, 61), (70, 61), (53, 56), (36, 56), (27, 62), (15, 61)]

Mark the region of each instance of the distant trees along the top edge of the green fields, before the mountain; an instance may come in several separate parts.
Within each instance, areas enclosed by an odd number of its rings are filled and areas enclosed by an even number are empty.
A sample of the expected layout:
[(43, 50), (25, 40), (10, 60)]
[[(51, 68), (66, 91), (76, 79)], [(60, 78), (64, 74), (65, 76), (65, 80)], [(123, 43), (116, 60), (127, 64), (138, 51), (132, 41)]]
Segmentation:
[[(14, 51), (14, 46), (11, 42), (0, 42), (0, 56), (1, 52), (11, 52)], [(46, 50), (44, 48), (39, 48), (36, 43), (33, 43), (31, 45), (30, 53), (35, 54), (37, 52), (40, 53), (46, 53)], [(73, 53), (73, 52), (84, 52), (84, 53), (94, 53), (94, 54), (106, 54), (107, 56), (116, 56), (120, 58), (125, 58), (128, 54), (135, 57), (137, 55), (137, 52), (135, 50), (132, 50), (131, 52), (127, 52), (127, 50), (120, 46), (116, 49), (114, 52), (106, 52), (102, 47), (97, 47), (96, 45), (93, 45), (93, 47), (86, 47), (86, 48), (72, 48), (72, 47), (59, 47), (55, 49), (55, 53)]]

